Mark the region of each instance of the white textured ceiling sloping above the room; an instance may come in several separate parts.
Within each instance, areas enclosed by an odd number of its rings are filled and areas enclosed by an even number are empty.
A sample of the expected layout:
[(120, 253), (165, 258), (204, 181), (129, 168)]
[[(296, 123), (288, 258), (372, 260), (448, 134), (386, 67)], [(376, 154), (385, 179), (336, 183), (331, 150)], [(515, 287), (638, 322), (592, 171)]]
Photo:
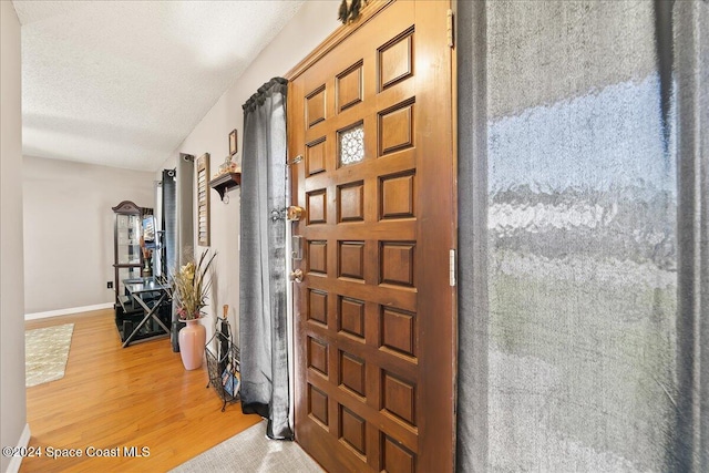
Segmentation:
[(302, 1), (13, 3), (23, 153), (155, 171)]

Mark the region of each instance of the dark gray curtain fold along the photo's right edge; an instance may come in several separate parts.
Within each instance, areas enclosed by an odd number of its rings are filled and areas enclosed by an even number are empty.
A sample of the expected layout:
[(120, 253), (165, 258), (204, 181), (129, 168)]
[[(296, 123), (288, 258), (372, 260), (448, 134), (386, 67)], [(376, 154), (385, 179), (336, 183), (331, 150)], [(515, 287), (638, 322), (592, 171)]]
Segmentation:
[(677, 471), (709, 471), (709, 2), (672, 3), (678, 183)]

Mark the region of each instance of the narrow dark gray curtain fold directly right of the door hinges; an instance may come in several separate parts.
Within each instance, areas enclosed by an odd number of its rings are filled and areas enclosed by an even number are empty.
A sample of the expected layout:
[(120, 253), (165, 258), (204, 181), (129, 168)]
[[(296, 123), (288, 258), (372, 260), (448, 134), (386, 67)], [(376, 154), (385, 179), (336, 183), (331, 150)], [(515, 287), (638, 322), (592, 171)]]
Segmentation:
[[(485, 3), (459, 1), (455, 18), (459, 150), (459, 472), (487, 467), (487, 96)], [(473, 60), (473, 58), (475, 58)], [(463, 132), (465, 131), (465, 132)]]

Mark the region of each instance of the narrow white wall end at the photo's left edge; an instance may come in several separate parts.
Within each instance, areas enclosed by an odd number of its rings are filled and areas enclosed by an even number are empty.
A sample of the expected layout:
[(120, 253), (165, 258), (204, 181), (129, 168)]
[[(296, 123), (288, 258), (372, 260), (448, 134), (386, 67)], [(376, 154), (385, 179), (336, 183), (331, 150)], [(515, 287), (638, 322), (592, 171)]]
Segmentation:
[[(22, 269), (20, 21), (0, 1), (0, 444), (16, 446), (27, 423)], [(29, 431), (28, 431), (29, 432)], [(27, 439), (29, 441), (29, 438)], [(0, 471), (10, 459), (0, 456)]]

